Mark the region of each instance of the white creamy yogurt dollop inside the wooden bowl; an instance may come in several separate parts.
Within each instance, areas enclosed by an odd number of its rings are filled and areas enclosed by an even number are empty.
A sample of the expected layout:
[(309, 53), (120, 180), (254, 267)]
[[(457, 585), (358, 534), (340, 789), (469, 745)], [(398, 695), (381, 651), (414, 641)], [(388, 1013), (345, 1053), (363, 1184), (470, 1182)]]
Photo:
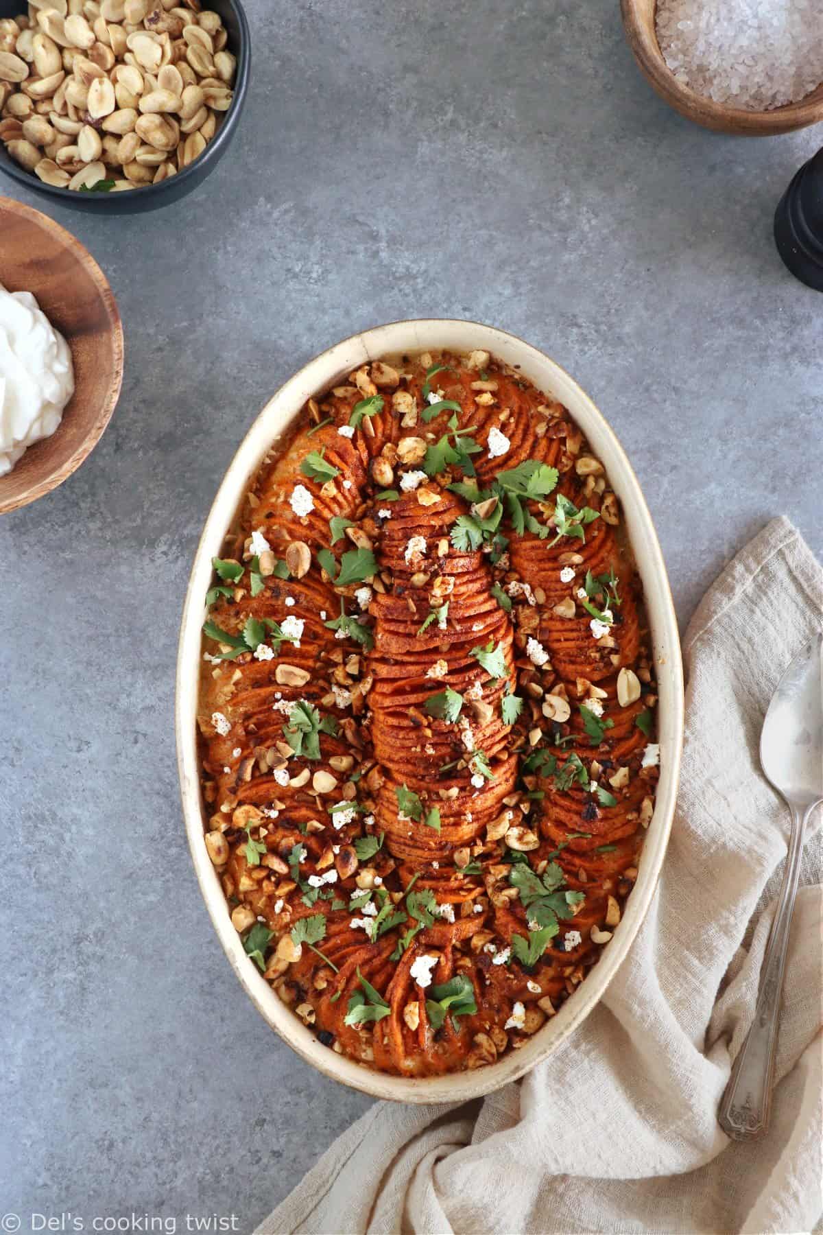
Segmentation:
[(68, 343), (30, 291), (0, 284), (0, 475), (52, 436), (73, 394)]

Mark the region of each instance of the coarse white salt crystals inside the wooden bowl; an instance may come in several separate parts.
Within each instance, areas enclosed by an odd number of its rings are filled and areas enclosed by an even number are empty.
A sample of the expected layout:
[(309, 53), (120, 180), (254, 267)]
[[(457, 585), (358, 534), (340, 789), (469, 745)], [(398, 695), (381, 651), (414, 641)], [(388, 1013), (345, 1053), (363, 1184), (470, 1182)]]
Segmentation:
[(823, 80), (819, 0), (658, 0), (656, 35), (679, 82), (732, 107), (798, 103)]

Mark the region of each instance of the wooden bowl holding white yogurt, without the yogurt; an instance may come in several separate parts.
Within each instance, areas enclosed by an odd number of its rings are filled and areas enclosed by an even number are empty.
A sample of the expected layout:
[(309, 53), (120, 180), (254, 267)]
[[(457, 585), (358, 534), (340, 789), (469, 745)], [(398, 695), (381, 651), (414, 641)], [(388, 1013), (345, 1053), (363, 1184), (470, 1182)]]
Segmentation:
[(123, 329), (105, 274), (46, 215), (0, 198), (0, 283), (31, 291), (72, 348), (74, 395), (57, 431), (0, 475), (0, 514), (63, 484), (100, 441), (123, 379)]

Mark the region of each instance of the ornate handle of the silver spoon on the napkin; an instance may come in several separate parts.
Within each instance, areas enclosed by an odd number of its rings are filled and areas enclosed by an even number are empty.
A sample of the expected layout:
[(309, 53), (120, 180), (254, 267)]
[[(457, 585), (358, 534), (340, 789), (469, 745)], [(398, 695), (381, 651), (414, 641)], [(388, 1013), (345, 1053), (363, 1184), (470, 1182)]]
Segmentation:
[(717, 1113), (721, 1128), (727, 1136), (735, 1141), (761, 1136), (769, 1126), (788, 931), (797, 894), (803, 832), (812, 809), (809, 806), (804, 814), (801, 814), (795, 806), (791, 808), (792, 831), (788, 842), (788, 858), (760, 972), (760, 989), (754, 1021), (734, 1061), (732, 1076)]

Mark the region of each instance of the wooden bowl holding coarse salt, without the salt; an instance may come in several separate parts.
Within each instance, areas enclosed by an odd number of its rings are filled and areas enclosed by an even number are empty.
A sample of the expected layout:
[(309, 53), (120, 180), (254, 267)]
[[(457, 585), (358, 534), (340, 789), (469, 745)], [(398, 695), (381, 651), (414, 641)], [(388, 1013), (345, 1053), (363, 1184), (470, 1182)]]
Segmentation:
[(823, 84), (800, 103), (787, 103), (772, 111), (728, 107), (724, 103), (714, 103), (702, 94), (695, 94), (677, 80), (663, 58), (654, 25), (656, 7), (658, 0), (621, 0), (623, 30), (643, 77), (686, 120), (693, 120), (703, 128), (713, 128), (718, 133), (744, 137), (791, 133), (823, 120)]

